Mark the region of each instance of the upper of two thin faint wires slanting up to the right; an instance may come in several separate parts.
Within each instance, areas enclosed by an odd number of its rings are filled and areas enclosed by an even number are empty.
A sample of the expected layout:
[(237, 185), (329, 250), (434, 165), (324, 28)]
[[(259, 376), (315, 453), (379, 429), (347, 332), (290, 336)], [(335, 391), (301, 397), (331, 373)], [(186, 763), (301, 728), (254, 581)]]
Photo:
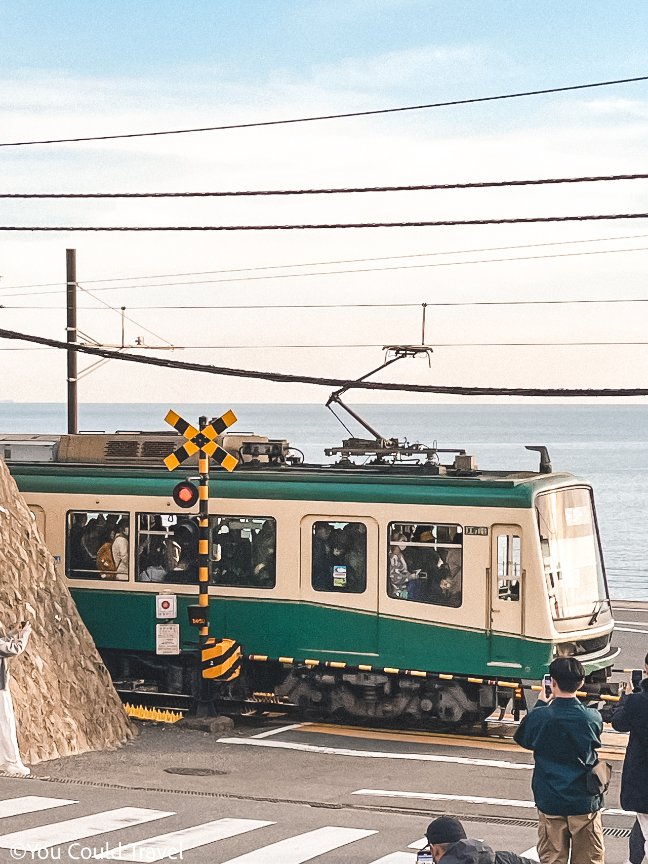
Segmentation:
[[(85, 279), (86, 285), (103, 282), (131, 282), (134, 279), (175, 279), (178, 276), (212, 276), (219, 273), (244, 273), (252, 270), (288, 270), (292, 267), (323, 267), (327, 264), (364, 264), (369, 261), (396, 261), (401, 258), (419, 258), (436, 255), (469, 255), (473, 252), (499, 252), (508, 249), (535, 249), (540, 246), (565, 246), (579, 243), (607, 243), (612, 240), (636, 240), (648, 237), (648, 234), (626, 234), (621, 237), (594, 237), (586, 240), (554, 240), (550, 243), (524, 243), (515, 246), (486, 246), (479, 249), (457, 249), (447, 252), (416, 252), (410, 255), (384, 255), (373, 258), (343, 258), (340, 261), (312, 261), (305, 264), (270, 264), (264, 267), (237, 267), (233, 270), (198, 270), (190, 273), (162, 273), (154, 276), (114, 276), (111, 279)], [(64, 282), (44, 282), (34, 285), (7, 285), (0, 288), (2, 291), (14, 290), (16, 288), (51, 288), (56, 285), (65, 285)]]

